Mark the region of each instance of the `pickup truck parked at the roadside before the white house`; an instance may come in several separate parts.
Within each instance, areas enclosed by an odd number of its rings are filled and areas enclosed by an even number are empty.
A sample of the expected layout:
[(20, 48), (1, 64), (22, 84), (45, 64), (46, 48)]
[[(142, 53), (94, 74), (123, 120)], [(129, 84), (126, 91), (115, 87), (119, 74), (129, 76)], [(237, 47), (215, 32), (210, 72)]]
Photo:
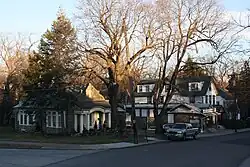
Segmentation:
[(165, 133), (169, 140), (186, 140), (190, 137), (196, 139), (198, 134), (199, 128), (193, 128), (190, 123), (176, 123), (171, 128), (167, 129)]

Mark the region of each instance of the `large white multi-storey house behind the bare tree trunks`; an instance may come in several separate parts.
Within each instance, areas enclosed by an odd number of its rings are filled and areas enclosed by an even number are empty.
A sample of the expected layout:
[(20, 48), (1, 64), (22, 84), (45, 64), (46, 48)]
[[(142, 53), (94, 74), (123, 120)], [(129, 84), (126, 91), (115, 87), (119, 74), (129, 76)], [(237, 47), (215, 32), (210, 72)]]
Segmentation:
[[(137, 84), (134, 93), (136, 117), (153, 119), (152, 90), (154, 89), (156, 81), (157, 80), (142, 80)], [(166, 83), (160, 97), (159, 113), (166, 99), (167, 91), (168, 83)], [(213, 77), (181, 77), (176, 80), (176, 91), (165, 112), (168, 113), (179, 104), (189, 104), (199, 108), (201, 113), (207, 116), (208, 122), (217, 124), (218, 121), (222, 119), (221, 115), (226, 112), (227, 103), (230, 103), (230, 99), (228, 97), (225, 98), (225, 94), (222, 95)], [(130, 115), (130, 104), (126, 105), (126, 110), (128, 111), (128, 115)], [(129, 116), (127, 118), (128, 120), (131, 119)], [(166, 119), (169, 120), (170, 118)]]

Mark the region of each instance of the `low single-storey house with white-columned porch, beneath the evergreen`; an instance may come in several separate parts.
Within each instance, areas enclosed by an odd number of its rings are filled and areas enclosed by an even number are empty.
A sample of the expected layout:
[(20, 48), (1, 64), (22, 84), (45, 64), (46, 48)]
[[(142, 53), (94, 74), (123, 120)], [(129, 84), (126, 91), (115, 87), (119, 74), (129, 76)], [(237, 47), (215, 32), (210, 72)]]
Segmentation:
[[(68, 88), (63, 93), (44, 91), (36, 97), (26, 97), (14, 107), (14, 111), (18, 131), (35, 131), (39, 123), (37, 118), (48, 134), (81, 133), (84, 127), (92, 129), (95, 121), (101, 124), (106, 121), (111, 127), (110, 104), (91, 84)], [(119, 111), (124, 110), (119, 108)]]

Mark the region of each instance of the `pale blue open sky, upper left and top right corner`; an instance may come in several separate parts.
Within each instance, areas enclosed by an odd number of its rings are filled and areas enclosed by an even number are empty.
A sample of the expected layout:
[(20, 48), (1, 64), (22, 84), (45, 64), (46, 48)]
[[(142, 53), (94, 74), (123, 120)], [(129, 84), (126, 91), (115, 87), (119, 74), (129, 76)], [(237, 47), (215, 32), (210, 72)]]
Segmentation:
[[(250, 8), (250, 0), (220, 1), (231, 12), (244, 12)], [(50, 28), (59, 6), (72, 18), (76, 4), (77, 0), (0, 0), (0, 33), (40, 36)]]

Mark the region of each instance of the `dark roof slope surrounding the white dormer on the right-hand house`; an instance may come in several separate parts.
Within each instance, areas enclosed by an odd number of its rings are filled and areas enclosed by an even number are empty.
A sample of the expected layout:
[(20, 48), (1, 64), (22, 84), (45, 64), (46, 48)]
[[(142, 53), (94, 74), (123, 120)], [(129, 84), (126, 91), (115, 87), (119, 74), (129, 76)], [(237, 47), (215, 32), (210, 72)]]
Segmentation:
[[(200, 91), (189, 91), (190, 82), (204, 82)], [(212, 82), (211, 76), (182, 77), (176, 80), (178, 92), (182, 96), (204, 96)]]

